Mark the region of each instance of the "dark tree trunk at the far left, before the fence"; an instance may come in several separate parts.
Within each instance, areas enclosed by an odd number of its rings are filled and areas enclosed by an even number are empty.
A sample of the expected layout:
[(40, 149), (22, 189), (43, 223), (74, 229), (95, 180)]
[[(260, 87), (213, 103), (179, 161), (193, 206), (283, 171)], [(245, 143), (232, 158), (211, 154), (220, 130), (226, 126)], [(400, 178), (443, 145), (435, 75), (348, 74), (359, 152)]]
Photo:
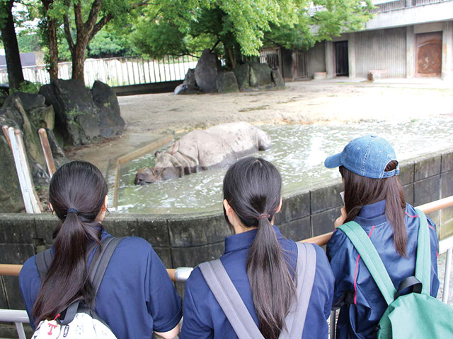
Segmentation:
[(9, 88), (18, 89), (24, 81), (21, 64), (21, 54), (17, 44), (16, 30), (14, 30), (13, 1), (8, 1), (0, 6), (0, 10), (8, 13), (1, 28), (1, 40), (5, 47), (6, 67), (8, 68)]

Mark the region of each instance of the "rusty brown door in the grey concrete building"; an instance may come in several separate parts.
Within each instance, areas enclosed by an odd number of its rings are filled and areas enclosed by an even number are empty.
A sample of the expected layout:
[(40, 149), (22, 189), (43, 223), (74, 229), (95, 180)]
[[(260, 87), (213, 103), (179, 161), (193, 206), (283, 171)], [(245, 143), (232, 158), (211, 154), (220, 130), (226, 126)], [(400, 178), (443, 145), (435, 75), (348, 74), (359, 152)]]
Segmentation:
[(415, 76), (442, 74), (442, 32), (416, 35)]

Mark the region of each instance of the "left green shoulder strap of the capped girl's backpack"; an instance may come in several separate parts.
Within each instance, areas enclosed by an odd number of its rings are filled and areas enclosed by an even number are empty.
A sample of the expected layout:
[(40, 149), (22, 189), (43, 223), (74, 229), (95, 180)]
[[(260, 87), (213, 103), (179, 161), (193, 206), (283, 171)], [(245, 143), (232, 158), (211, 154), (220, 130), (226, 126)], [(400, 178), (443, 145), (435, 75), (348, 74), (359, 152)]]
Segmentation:
[(355, 221), (346, 222), (338, 228), (346, 234), (357, 252), (359, 252), (386, 303), (390, 304), (393, 302), (396, 295), (394, 284), (391, 282), (389, 273), (387, 273), (384, 263), (382, 263), (367, 232)]

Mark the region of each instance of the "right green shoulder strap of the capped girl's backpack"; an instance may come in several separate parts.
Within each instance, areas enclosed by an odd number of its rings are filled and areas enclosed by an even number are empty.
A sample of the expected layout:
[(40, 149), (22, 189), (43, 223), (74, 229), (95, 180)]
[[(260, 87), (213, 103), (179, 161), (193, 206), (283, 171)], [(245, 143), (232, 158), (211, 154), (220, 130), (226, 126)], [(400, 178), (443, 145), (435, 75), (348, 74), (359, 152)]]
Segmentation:
[(422, 283), (422, 293), (430, 295), (431, 285), (431, 242), (426, 215), (415, 208), (420, 220), (418, 228), (417, 261), (415, 263), (415, 278)]

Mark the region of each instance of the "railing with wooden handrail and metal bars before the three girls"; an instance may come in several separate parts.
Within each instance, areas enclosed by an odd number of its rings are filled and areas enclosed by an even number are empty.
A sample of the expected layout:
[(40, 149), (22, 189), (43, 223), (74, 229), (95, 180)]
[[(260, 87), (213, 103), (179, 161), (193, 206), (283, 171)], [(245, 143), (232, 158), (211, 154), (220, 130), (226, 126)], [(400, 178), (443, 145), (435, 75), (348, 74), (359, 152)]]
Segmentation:
[[(442, 208), (453, 206), (453, 196), (443, 198), (431, 203), (418, 206), (424, 213), (431, 213)], [(318, 237), (312, 237), (309, 239), (301, 240), (300, 242), (310, 242), (318, 244), (319, 246), (326, 245), (328, 240), (331, 239), (332, 233), (322, 234)], [(447, 252), (447, 260), (445, 262), (445, 276), (444, 276), (444, 289), (442, 293), (442, 302), (448, 302), (449, 295), (449, 281), (452, 272), (452, 257), (453, 257), (453, 236), (447, 239), (443, 239), (439, 242), (439, 254)], [(13, 275), (18, 276), (21, 271), (22, 265), (7, 265), (0, 264), (0, 275)], [(185, 282), (189, 278), (193, 268), (191, 267), (179, 267), (176, 269), (168, 268), (167, 273), (171, 280), (176, 282)], [(23, 323), (28, 323), (28, 315), (25, 310), (16, 309), (0, 309), (0, 322), (15, 323), (16, 331), (19, 339), (25, 339), (25, 331), (23, 330)], [(330, 316), (330, 339), (335, 339), (335, 326), (336, 326), (336, 311), (331, 311)]]

